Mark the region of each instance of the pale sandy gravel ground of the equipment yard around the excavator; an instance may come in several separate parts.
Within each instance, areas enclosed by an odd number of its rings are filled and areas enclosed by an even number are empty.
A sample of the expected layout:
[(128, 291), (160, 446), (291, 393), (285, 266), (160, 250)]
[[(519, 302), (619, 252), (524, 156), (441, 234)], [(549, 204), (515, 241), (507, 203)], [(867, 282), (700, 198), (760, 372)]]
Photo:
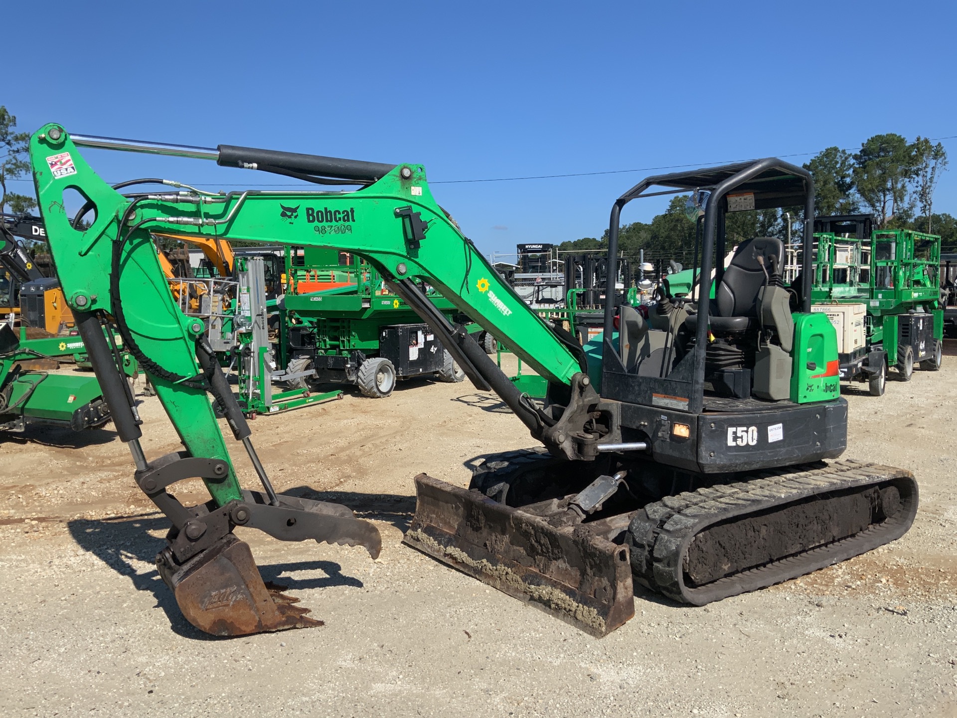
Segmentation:
[[(640, 593), (634, 619), (604, 639), (400, 544), (415, 474), (466, 485), (470, 460), (534, 444), (467, 381), (256, 419), (278, 489), (356, 509), (384, 547), (373, 562), (237, 529), (263, 575), (325, 621), (242, 639), (213, 639), (178, 613), (152, 563), (166, 521), (109, 428), (2, 437), (0, 712), (957, 716), (957, 343), (946, 354), (943, 370), (888, 381), (882, 399), (845, 391), (845, 456), (920, 481), (900, 541), (705, 608)], [(147, 457), (177, 450), (158, 401), (141, 412)], [(189, 488), (181, 499), (204, 500), (202, 484)]]

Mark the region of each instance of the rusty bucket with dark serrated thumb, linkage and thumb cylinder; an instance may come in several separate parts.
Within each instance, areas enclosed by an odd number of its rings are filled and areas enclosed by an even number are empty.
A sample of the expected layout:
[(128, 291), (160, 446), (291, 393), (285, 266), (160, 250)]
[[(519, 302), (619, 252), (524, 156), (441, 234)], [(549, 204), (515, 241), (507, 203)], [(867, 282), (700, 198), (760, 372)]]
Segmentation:
[(309, 609), (293, 605), (298, 598), (262, 580), (252, 551), (234, 536), (234, 527), (258, 528), (280, 541), (313, 539), (363, 546), (372, 558), (382, 550), (379, 530), (356, 519), (343, 505), (278, 496), (256, 456), (249, 425), (205, 340), (197, 342), (196, 357), (234, 437), (243, 442), (265, 494), (243, 491), (241, 501), (188, 509), (167, 493), (167, 486), (190, 478), (222, 480), (229, 471), (225, 461), (167, 454), (149, 463), (145, 471), (137, 471), (137, 484), (173, 524), (167, 548), (156, 557), (160, 575), (183, 616), (215, 636), (321, 626), (322, 621), (306, 616)]

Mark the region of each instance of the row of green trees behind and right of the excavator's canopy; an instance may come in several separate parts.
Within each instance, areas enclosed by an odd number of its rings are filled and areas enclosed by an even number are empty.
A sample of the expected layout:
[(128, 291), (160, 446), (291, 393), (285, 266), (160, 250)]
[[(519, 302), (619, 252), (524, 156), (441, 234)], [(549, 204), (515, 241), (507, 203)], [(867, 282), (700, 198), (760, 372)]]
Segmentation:
[[(947, 166), (944, 146), (923, 137), (907, 142), (898, 134), (875, 135), (849, 152), (827, 147), (804, 165), (814, 178), (814, 210), (818, 216), (873, 213), (879, 229), (912, 229), (940, 235), (945, 251), (957, 251), (957, 218), (933, 211), (934, 190)], [(672, 198), (668, 209), (651, 222), (624, 224), (618, 249), (637, 267), (641, 250), (646, 261), (693, 260), (695, 222), (685, 213), (689, 195)], [(753, 236), (787, 238), (789, 216), (793, 236), (800, 236), (803, 207), (728, 213), (728, 245)], [(563, 251), (605, 250), (608, 230), (598, 237), (564, 241)]]

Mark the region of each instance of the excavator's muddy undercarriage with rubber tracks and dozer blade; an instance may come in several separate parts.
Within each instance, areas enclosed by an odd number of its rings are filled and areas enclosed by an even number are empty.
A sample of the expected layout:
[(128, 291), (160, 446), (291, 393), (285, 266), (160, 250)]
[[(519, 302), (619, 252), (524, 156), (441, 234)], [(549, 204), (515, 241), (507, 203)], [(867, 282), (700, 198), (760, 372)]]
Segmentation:
[(634, 615), (633, 580), (703, 605), (893, 541), (918, 504), (910, 472), (855, 460), (667, 480), (654, 464), (511, 452), (470, 490), (416, 477), (405, 542), (604, 636)]

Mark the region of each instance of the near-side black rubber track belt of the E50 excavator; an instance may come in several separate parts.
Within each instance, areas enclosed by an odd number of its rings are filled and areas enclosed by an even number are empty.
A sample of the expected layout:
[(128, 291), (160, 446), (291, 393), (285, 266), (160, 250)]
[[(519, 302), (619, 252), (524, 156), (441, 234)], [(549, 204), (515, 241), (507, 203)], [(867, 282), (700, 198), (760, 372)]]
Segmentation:
[[(702, 606), (730, 595), (771, 586), (804, 573), (823, 569), (900, 538), (917, 513), (918, 487), (909, 471), (839, 460), (795, 471), (785, 467), (765, 471), (746, 482), (735, 482), (666, 496), (646, 505), (628, 531), (634, 580), (682, 603)], [(901, 491), (901, 510), (834, 543), (720, 578), (699, 588), (685, 586), (683, 562), (695, 534), (713, 524), (787, 505), (800, 499), (840, 489), (893, 482)]]

